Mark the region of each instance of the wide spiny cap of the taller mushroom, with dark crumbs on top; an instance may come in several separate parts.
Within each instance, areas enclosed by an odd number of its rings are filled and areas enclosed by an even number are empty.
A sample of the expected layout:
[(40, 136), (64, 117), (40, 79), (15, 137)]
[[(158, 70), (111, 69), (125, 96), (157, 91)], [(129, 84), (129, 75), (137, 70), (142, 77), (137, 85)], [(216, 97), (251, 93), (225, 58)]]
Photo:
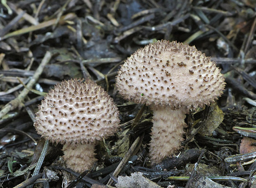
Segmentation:
[(161, 40), (127, 58), (116, 87), (135, 103), (178, 109), (213, 102), (223, 93), (225, 82), (216, 63), (195, 46)]

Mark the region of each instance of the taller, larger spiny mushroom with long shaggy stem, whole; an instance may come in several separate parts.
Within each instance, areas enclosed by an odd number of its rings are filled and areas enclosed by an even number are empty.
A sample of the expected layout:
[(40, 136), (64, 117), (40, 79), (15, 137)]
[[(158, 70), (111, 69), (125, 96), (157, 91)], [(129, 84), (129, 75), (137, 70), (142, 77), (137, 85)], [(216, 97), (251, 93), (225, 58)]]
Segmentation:
[(161, 40), (121, 65), (116, 87), (126, 100), (152, 109), (149, 157), (156, 164), (181, 148), (189, 109), (209, 105), (223, 93), (225, 82), (216, 64), (195, 46)]

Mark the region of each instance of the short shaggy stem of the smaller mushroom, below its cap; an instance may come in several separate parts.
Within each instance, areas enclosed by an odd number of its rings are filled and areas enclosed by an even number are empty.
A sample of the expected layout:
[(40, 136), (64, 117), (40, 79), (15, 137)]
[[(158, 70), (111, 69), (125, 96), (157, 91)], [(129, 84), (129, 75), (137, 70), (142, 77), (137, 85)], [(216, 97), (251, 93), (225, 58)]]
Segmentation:
[(85, 170), (90, 170), (97, 161), (95, 156), (95, 144), (77, 144), (63, 146), (63, 159), (66, 166), (75, 172), (82, 173)]

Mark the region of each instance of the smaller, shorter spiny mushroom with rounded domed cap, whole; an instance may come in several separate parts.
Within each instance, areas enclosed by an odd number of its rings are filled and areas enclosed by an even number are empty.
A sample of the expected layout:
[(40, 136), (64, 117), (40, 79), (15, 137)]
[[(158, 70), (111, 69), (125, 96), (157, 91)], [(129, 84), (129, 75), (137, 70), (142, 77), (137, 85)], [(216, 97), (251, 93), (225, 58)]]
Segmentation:
[(55, 85), (42, 100), (34, 127), (51, 142), (65, 144), (64, 160), (76, 172), (90, 169), (96, 141), (119, 129), (119, 111), (103, 88), (89, 79)]

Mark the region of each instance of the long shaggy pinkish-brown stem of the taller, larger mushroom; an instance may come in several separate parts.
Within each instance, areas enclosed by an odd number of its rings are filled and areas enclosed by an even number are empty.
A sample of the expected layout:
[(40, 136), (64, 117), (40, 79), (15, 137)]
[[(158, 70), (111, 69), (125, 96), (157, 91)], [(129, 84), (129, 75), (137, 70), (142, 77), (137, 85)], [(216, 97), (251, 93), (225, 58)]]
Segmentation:
[(149, 157), (152, 164), (161, 162), (181, 148), (183, 128), (187, 126), (184, 119), (187, 110), (180, 108), (173, 110), (170, 107), (154, 108), (153, 127), (149, 147)]

